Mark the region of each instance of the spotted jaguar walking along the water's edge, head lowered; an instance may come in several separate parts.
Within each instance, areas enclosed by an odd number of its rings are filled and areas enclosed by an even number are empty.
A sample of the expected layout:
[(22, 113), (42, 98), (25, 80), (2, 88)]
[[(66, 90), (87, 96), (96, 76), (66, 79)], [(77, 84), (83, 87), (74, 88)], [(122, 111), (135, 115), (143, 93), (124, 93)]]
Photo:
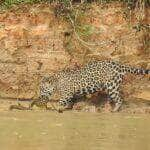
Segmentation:
[(39, 100), (33, 101), (30, 107), (47, 106), (53, 94), (57, 92), (60, 96), (58, 110), (65, 110), (72, 108), (80, 96), (105, 90), (108, 101), (114, 103), (112, 111), (118, 111), (123, 102), (120, 85), (127, 73), (144, 75), (150, 74), (150, 70), (134, 68), (111, 60), (92, 60), (80, 68), (61, 70), (42, 78)]

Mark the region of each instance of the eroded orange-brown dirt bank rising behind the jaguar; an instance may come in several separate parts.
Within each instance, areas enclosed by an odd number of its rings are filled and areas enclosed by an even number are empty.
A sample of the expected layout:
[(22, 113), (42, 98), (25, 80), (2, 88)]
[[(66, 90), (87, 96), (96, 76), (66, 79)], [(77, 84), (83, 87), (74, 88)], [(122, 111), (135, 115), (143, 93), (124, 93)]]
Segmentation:
[[(150, 9), (140, 14), (121, 3), (83, 4), (76, 5), (69, 18), (59, 8), (36, 4), (0, 13), (2, 103), (7, 98), (37, 98), (43, 74), (80, 66), (91, 58), (150, 68)], [(149, 77), (128, 75), (122, 91), (126, 100), (150, 100)]]

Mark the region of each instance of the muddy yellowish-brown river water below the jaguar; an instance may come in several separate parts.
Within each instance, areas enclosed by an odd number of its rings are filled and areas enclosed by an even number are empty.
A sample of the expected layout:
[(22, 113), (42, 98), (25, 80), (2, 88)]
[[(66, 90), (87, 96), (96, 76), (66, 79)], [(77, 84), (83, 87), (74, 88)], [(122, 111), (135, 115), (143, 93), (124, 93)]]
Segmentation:
[(0, 150), (150, 150), (150, 115), (4, 111)]

